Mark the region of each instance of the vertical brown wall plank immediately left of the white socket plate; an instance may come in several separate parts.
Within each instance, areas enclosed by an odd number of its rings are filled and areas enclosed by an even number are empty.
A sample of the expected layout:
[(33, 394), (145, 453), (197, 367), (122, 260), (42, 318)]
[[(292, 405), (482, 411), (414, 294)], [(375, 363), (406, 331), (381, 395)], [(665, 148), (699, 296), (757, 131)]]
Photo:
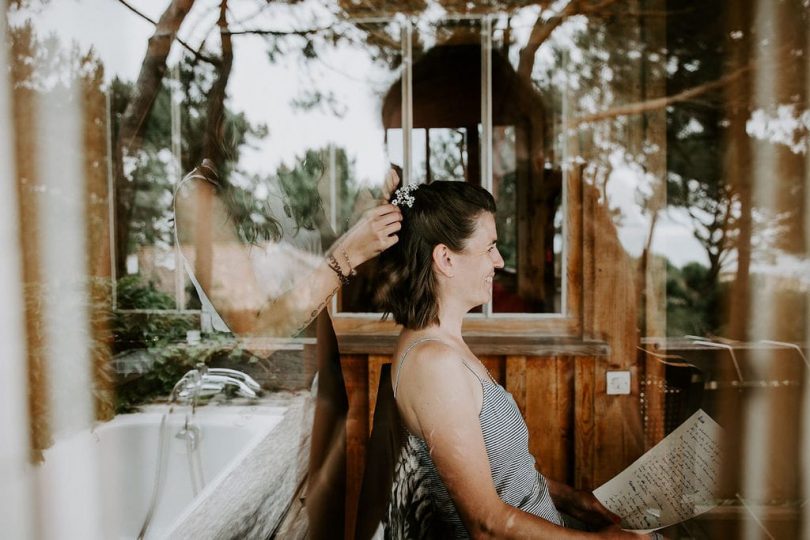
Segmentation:
[(593, 489), (596, 360), (588, 357), (574, 359), (574, 487)]

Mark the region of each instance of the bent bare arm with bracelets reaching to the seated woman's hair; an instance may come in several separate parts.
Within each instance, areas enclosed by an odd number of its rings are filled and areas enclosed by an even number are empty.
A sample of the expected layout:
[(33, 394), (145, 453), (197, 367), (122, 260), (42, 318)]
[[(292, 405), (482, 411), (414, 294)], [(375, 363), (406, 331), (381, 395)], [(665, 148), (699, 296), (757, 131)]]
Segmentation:
[[(340, 288), (326, 258), (285, 257), (293, 286), (266, 298), (252, 270), (249, 250), (239, 239), (213, 184), (185, 182), (175, 199), (181, 249), (194, 247), (195, 275), (228, 326), (237, 334), (287, 337), (305, 328)], [(333, 248), (342, 272), (356, 268), (397, 241), (401, 213), (392, 205), (368, 210)], [(192, 258), (192, 257), (188, 257)], [(348, 260), (347, 260), (348, 258)], [(304, 261), (307, 261), (306, 263)]]

